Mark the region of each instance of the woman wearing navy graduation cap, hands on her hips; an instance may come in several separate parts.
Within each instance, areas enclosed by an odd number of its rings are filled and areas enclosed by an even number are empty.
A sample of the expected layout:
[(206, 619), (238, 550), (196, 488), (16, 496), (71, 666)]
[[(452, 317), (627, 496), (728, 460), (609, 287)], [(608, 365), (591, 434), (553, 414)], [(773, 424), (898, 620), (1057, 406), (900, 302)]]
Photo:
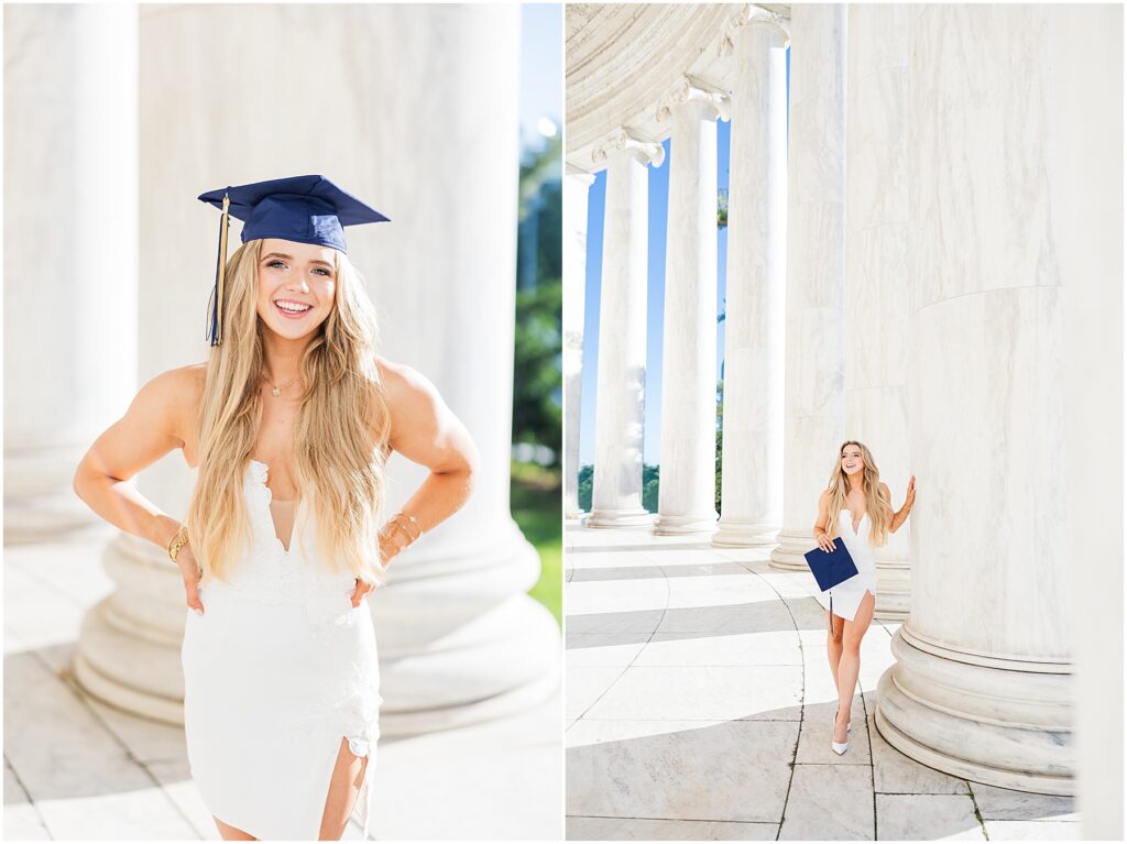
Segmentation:
[[(365, 596), (458, 510), (474, 445), (435, 388), (376, 355), (344, 226), (387, 220), (320, 176), (203, 194), (222, 211), (206, 363), (147, 383), (76, 491), (184, 579), (188, 759), (225, 839), (338, 839), (369, 821), (379, 663)], [(227, 259), (228, 215), (245, 221)], [(124, 480), (181, 448), (184, 524)], [(431, 470), (384, 518), (391, 452)]]

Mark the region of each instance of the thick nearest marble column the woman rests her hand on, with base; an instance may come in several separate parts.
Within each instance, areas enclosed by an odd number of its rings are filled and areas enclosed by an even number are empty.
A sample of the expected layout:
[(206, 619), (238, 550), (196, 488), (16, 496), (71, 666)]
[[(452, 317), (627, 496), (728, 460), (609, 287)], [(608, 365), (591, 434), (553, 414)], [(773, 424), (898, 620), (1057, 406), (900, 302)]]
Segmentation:
[(909, 11), (916, 506), (911, 613), (877, 709), (931, 767), (1054, 794), (1074, 789), (1064, 259), (1097, 222), (1055, 213), (1083, 151), (1050, 119), (1053, 75), (1086, 74), (1083, 51), (1053, 52), (1068, 14)]

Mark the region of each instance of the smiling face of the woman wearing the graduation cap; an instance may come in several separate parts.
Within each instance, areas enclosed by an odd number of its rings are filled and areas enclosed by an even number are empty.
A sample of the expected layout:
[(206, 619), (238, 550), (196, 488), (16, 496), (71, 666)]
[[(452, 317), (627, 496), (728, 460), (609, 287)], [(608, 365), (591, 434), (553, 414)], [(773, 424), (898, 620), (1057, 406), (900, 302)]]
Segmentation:
[(286, 339), (314, 331), (332, 311), (336, 250), (267, 238), (258, 259), (258, 317)]

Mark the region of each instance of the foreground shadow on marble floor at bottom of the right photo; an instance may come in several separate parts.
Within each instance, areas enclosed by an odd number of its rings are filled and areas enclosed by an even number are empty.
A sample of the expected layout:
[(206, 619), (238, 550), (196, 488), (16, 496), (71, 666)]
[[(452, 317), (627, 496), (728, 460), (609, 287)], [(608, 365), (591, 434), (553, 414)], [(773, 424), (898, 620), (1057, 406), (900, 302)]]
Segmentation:
[(567, 836), (985, 839), (994, 821), (1036, 821), (1037, 837), (1054, 837), (1044, 824), (1076, 819), (1070, 798), (968, 785), (904, 756), (876, 729), (873, 702), (854, 699), (844, 756), (829, 748), (833, 703), (722, 721), (582, 719), (568, 730)]

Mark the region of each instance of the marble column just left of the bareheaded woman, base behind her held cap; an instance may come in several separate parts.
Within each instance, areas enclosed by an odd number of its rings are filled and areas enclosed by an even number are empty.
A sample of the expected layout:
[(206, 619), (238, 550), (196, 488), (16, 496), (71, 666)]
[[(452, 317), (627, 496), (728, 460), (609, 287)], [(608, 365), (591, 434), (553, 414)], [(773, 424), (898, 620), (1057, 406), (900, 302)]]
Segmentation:
[[(783, 530), (771, 565), (808, 570), (818, 496), (845, 433), (845, 6), (791, 7)], [(868, 323), (849, 326), (854, 335)]]

